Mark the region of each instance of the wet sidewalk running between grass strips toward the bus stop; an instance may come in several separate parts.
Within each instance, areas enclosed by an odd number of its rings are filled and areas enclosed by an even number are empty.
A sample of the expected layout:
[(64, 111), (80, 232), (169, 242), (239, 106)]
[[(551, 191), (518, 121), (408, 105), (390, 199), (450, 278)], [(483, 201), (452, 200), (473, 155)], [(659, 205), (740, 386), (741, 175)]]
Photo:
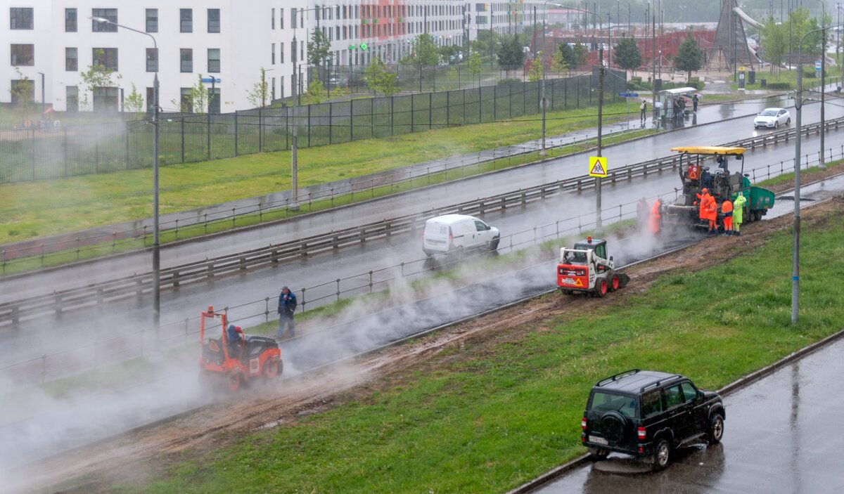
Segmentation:
[[(746, 106), (746, 103), (743, 103), (742, 105)], [(724, 120), (724, 118), (727, 117), (726, 115), (733, 115), (736, 110), (749, 110), (748, 108), (742, 108), (742, 105), (707, 105), (706, 98), (704, 98), (701, 100), (701, 106), (697, 114), (691, 115), (690, 118), (684, 121), (680, 121), (679, 123), (669, 123), (667, 126), (668, 128), (663, 128), (663, 130), (674, 130), (676, 128), (681, 128), (684, 126), (695, 126), (722, 121)], [(650, 104), (648, 106), (650, 107)], [(752, 113), (748, 113), (747, 115), (751, 114)], [(744, 113), (742, 115), (744, 115)], [(630, 121), (621, 121), (616, 122), (614, 124), (605, 125), (603, 126), (602, 134), (606, 137), (617, 132), (636, 130), (646, 127), (652, 128), (652, 116), (652, 110), (650, 110), (649, 108), (647, 120), (645, 124), (642, 125), (639, 121), (638, 105), (635, 105), (633, 101), (630, 101)], [(546, 137), (546, 147), (552, 148), (555, 146), (559, 146), (560, 144), (578, 142), (583, 141), (585, 139), (594, 139), (597, 136), (597, 127), (592, 127), (577, 132), (569, 132), (556, 136), (549, 136)], [(370, 180), (374, 183), (377, 183), (379, 179), (384, 179), (385, 177), (388, 177), (390, 175), (401, 174), (406, 176), (422, 177), (428, 175), (430, 173), (430, 170), (432, 169), (435, 170), (435, 172), (443, 171), (446, 169), (458, 169), (467, 164), (476, 164), (479, 161), (483, 162), (486, 160), (491, 160), (493, 158), (499, 158), (516, 153), (523, 153), (527, 150), (536, 150), (540, 147), (541, 139), (535, 139), (532, 141), (521, 142), (511, 146), (493, 148), (478, 153), (465, 153), (449, 158), (441, 158), (419, 164), (408, 165), (406, 167), (401, 167), (398, 169), (386, 170), (376, 174), (361, 175), (357, 177), (351, 177), (349, 179), (327, 182), (320, 185), (300, 188), (299, 200), (300, 203), (307, 202), (309, 201), (311, 196), (322, 197), (323, 195), (321, 193), (327, 191), (352, 191), (354, 189), (354, 184)], [(174, 225), (177, 225), (179, 228), (186, 228), (192, 224), (203, 223), (203, 218), (205, 217), (214, 218), (224, 217), (226, 215), (230, 217), (230, 214), (233, 209), (254, 209), (257, 211), (258, 207), (267, 208), (269, 207), (268, 205), (282, 205), (289, 201), (290, 197), (291, 192), (289, 190), (285, 190), (274, 192), (272, 194), (266, 194), (263, 196), (247, 197), (244, 199), (238, 199), (236, 201), (224, 202), (208, 207), (199, 207), (197, 209), (187, 210), (183, 212), (168, 213), (159, 217), (160, 228), (162, 231), (167, 228), (172, 228)], [(38, 239), (24, 240), (14, 244), (0, 244), (0, 254), (3, 255), (3, 259), (11, 260), (26, 255), (41, 255), (42, 245), (67, 243), (67, 246), (62, 247), (60, 249), (56, 249), (63, 250), (75, 247), (77, 245), (77, 241), (78, 245), (81, 246), (85, 244), (100, 243), (106, 241), (106, 239), (117, 240), (132, 237), (142, 238), (144, 234), (151, 232), (152, 228), (152, 218), (148, 217), (131, 222), (115, 223), (97, 228), (89, 228), (78, 232), (69, 232), (67, 234), (58, 234), (50, 237), (41, 237)], [(85, 239), (89, 240), (86, 242)]]

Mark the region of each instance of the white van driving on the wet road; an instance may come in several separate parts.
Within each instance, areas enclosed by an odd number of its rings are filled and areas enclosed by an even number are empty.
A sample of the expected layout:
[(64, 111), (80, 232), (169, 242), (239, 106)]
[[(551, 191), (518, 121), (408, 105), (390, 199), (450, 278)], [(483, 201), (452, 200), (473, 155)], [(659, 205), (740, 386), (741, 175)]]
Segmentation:
[(425, 222), (422, 250), (426, 255), (456, 253), (474, 249), (496, 250), (500, 234), (498, 228), (465, 214), (446, 214)]

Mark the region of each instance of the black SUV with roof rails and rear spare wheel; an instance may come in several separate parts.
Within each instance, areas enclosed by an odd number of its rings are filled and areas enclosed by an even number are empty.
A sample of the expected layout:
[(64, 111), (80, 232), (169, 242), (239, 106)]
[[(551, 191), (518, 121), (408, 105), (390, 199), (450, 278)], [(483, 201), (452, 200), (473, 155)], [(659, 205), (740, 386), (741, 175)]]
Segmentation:
[(583, 412), (581, 442), (598, 459), (632, 454), (663, 470), (674, 448), (724, 434), (724, 403), (678, 374), (633, 369), (598, 381)]

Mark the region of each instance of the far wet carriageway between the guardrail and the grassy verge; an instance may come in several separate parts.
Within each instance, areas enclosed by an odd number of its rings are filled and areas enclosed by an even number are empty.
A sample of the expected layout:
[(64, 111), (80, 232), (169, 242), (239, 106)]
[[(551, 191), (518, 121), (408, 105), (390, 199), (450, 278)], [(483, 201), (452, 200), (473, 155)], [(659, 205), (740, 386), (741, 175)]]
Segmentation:
[[(777, 103), (777, 105), (779, 104), (781, 103)], [(678, 132), (668, 132), (619, 146), (610, 146), (603, 149), (603, 156), (607, 157), (608, 166), (612, 169), (652, 158), (668, 156), (671, 154), (669, 149), (676, 146), (714, 145), (733, 142), (739, 138), (763, 135), (768, 131), (755, 131), (752, 121), (755, 112), (766, 107), (766, 105), (764, 102), (754, 102), (706, 108), (701, 110), (701, 121), (719, 121), (736, 115), (748, 116), (723, 121), (717, 125), (690, 126)], [(835, 105), (826, 106), (825, 116), (827, 119), (844, 115), (844, 108)], [(803, 121), (806, 124), (817, 122), (819, 119), (820, 105), (813, 104), (803, 107)], [(834, 147), (835, 142), (830, 139), (827, 146)], [(793, 148), (791, 143), (779, 148), (781, 148), (779, 153), (782, 156), (776, 158), (776, 160), (768, 160), (763, 157), (756, 157), (756, 155), (752, 159), (757, 164), (767, 164), (779, 159), (793, 158), (793, 151), (791, 156), (782, 152), (782, 148)], [(816, 151), (817, 145), (814, 148)], [(813, 146), (808, 140), (806, 140), (803, 149), (804, 153), (813, 152)], [(401, 196), (384, 197), (336, 211), (322, 212), (317, 215), (295, 218), (289, 222), (214, 237), (213, 239), (203, 240), (201, 243), (164, 245), (161, 250), (161, 266), (177, 266), (193, 260), (213, 259), (219, 255), (241, 250), (381, 221), (387, 217), (398, 217), (456, 204), (457, 202), (494, 196), (518, 188), (585, 175), (586, 172), (586, 155), (564, 157), (549, 160), (544, 164), (511, 169), (494, 175), (485, 175), (472, 180), (462, 180), (425, 190), (411, 191)], [(0, 293), (0, 302), (41, 295), (50, 293), (52, 290), (64, 290), (69, 287), (78, 287), (116, 277), (130, 276), (136, 272), (147, 272), (151, 266), (150, 259), (149, 252), (140, 252), (134, 255), (124, 255), (114, 260), (100, 260), (81, 268), (68, 267), (41, 275), (24, 277), (20, 281), (7, 280), (3, 282), (4, 289)], [(82, 282), (83, 280), (84, 282)]]

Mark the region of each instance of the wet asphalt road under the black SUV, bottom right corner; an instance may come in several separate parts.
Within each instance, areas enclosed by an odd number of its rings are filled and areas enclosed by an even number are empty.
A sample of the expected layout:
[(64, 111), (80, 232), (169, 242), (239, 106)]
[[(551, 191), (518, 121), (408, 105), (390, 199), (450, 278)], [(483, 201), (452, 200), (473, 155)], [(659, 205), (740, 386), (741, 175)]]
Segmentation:
[[(839, 340), (725, 397), (727, 419), (721, 444), (681, 450), (675, 463), (659, 473), (608, 473), (605, 467), (589, 463), (533, 492), (844, 491), (842, 373), (844, 340)], [(587, 394), (585, 389), (584, 397)], [(612, 462), (622, 463), (619, 470), (636, 471), (619, 455), (610, 456), (607, 463)]]

